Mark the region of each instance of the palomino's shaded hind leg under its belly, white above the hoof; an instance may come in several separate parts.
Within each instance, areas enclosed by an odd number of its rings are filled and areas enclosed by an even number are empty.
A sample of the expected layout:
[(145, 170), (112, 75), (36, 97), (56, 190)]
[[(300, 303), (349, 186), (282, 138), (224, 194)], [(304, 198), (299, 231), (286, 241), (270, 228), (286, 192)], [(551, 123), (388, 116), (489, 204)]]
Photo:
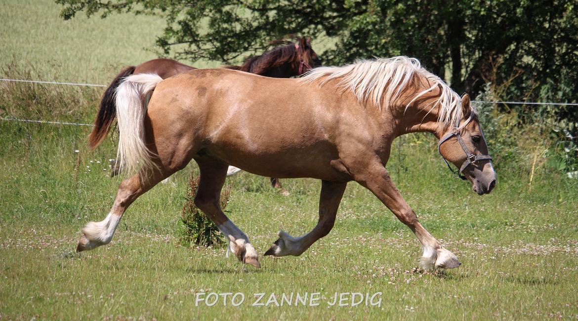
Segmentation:
[(195, 205), (205, 212), (218, 229), (225, 234), (231, 251), (241, 262), (261, 267), (257, 251), (249, 242), (249, 238), (229, 220), (219, 204), (221, 189), (225, 183), (225, 177), (227, 177), (228, 165), (208, 156), (195, 158), (195, 161), (201, 170)]

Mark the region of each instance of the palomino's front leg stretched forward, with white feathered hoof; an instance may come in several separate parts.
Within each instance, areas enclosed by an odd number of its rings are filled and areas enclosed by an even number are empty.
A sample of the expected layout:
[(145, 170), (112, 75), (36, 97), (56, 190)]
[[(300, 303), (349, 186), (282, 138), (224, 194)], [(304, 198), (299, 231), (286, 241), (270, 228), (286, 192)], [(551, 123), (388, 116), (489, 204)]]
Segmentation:
[(424, 253), (419, 263), (425, 269), (432, 267), (454, 268), (460, 266), (457, 257), (443, 248), (439, 241), (436, 240), (418, 221), (416, 213), (409, 207), (409, 204), (403, 199), (395, 184), (391, 181), (390, 175), (382, 165), (381, 161), (375, 159), (369, 161), (363, 166), (351, 168), (354, 180), (365, 188), (369, 189), (377, 198), (381, 200), (395, 216), (407, 225), (417, 239), (421, 242)]

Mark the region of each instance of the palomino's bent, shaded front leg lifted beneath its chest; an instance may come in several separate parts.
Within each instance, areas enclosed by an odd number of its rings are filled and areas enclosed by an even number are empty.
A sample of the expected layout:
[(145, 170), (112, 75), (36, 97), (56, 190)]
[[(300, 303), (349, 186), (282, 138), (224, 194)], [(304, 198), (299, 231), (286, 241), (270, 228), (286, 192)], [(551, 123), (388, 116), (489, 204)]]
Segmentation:
[(326, 236), (333, 228), (335, 215), (339, 208), (339, 202), (347, 183), (328, 182), (321, 183), (321, 196), (319, 198), (319, 221), (313, 230), (301, 237), (292, 237), (289, 234), (279, 232), (279, 239), (265, 252), (265, 255), (299, 256), (305, 252), (314, 242)]

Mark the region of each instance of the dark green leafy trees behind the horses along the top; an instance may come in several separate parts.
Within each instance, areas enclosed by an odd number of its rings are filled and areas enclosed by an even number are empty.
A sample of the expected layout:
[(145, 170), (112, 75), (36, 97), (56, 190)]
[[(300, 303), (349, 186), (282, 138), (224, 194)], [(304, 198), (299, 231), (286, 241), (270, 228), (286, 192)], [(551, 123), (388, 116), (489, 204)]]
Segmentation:
[[(510, 99), (576, 101), (574, 0), (56, 0), (61, 15), (162, 14), (166, 55), (224, 64), (301, 33), (335, 40), (329, 64), (407, 55), (475, 96), (491, 82)], [(578, 110), (578, 109), (575, 109)], [(578, 121), (578, 113), (570, 113)]]

